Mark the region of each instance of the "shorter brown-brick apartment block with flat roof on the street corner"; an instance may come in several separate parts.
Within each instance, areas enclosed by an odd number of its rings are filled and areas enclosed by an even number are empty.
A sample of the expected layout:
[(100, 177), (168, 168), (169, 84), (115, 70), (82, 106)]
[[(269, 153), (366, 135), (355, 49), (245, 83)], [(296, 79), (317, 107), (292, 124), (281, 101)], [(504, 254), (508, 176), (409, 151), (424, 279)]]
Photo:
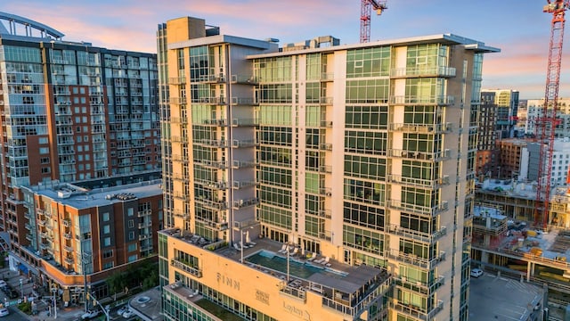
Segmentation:
[(114, 294), (108, 277), (145, 260), (156, 263), (156, 232), (163, 227), (159, 183), (94, 190), (59, 182), (22, 187), (28, 244), (11, 252), (11, 266), (46, 292), (58, 289), (58, 301), (85, 302), (85, 291), (97, 298)]

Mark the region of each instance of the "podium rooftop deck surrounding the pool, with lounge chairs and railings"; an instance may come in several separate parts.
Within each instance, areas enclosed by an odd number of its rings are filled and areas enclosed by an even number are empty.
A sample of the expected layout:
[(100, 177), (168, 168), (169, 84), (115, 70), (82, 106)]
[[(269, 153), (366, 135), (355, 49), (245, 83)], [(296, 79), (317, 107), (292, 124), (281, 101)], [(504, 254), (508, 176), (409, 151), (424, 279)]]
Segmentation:
[[(387, 291), (391, 283), (391, 276), (385, 269), (365, 265), (350, 266), (329, 257), (309, 254), (294, 246), (288, 249), (286, 244), (270, 239), (256, 239), (244, 243), (242, 247), (241, 244), (210, 243), (197, 235), (181, 233), (179, 229), (159, 233), (174, 236), (192, 246), (214, 251), (217, 255), (236, 262), (241, 262), (243, 258), (243, 264), (249, 268), (278, 279), (281, 292), (301, 300), (305, 300), (306, 292), (317, 293), (322, 296), (323, 305), (350, 316), (362, 313), (372, 301)], [(256, 256), (277, 259), (281, 264), (268, 264), (267, 260), (252, 261)], [(294, 264), (300, 273), (288, 274), (287, 263), (283, 267), (282, 262)]]

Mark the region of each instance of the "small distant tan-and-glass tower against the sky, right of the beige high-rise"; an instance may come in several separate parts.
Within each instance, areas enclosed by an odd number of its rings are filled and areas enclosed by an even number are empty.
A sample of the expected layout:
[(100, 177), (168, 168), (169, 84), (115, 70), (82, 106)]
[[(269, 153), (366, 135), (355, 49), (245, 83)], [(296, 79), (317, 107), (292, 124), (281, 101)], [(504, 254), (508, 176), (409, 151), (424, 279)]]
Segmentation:
[(496, 125), (500, 133), (499, 138), (515, 136), (514, 128), (517, 124), (518, 91), (512, 89), (483, 89), (482, 95), (494, 93), (496, 108)]

